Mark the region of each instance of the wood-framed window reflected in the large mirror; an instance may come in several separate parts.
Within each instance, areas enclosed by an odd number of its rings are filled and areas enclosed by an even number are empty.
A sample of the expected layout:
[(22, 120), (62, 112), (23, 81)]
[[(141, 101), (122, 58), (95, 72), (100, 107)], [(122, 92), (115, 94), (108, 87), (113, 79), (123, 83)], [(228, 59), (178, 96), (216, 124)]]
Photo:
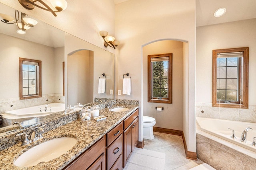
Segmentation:
[(41, 61), (19, 58), (20, 100), (42, 96)]

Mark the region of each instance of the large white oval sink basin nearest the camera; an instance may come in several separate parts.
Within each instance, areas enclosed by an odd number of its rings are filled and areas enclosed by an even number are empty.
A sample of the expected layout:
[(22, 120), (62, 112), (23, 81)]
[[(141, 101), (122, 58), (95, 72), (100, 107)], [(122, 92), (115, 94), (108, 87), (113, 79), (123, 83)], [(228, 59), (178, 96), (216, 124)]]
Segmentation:
[(76, 142), (77, 140), (72, 137), (60, 137), (46, 141), (24, 152), (15, 160), (14, 165), (26, 167), (48, 162), (65, 154), (76, 145)]

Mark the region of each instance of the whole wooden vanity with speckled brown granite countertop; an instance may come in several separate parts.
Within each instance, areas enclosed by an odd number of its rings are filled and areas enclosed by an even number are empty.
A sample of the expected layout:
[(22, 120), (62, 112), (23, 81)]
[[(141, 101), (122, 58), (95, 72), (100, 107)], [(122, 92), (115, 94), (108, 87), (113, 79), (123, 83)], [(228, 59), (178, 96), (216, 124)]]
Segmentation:
[[(138, 143), (138, 105), (122, 106), (128, 110), (122, 112), (113, 112), (107, 108), (100, 110), (100, 115), (108, 116), (105, 120), (95, 121), (92, 118), (90, 121), (81, 121), (78, 118), (43, 133), (43, 139), (36, 142), (25, 146), (18, 143), (2, 150), (0, 155), (1, 168), (3, 170), (20, 169), (14, 165), (14, 162), (27, 150), (51, 139), (72, 137), (77, 140), (77, 143), (66, 154), (35, 166), (26, 167), (26, 169), (121, 170)], [(113, 107), (118, 107), (118, 105)], [(77, 114), (79, 115), (79, 113)], [(66, 116), (71, 119), (71, 116)], [(56, 125), (57, 122), (51, 123)]]

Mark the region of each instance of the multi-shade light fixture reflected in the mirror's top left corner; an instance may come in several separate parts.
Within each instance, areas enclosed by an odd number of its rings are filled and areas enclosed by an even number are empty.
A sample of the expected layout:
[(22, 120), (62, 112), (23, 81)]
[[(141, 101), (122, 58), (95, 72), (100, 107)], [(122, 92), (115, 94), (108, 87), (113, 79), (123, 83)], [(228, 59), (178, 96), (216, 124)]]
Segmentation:
[[(17, 33), (19, 34), (25, 34), (26, 30), (30, 29), (31, 27), (34, 27), (38, 22), (32, 18), (26, 17), (26, 14), (21, 12), (18, 12), (15, 10), (15, 19), (12, 18), (11, 16), (8, 16), (6, 14), (0, 14), (0, 19), (3, 23), (8, 23), (8, 24), (14, 24), (16, 23), (18, 30)], [(20, 19), (20, 22), (18, 22)]]

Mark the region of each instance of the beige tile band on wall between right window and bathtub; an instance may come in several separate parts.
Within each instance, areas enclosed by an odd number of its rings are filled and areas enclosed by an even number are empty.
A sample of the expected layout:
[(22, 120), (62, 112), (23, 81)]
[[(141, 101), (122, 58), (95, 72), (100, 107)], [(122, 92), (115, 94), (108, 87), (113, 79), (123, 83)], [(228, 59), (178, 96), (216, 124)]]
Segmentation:
[(248, 109), (234, 109), (212, 107), (212, 103), (198, 102), (196, 103), (196, 117), (256, 123), (256, 106), (249, 105)]

